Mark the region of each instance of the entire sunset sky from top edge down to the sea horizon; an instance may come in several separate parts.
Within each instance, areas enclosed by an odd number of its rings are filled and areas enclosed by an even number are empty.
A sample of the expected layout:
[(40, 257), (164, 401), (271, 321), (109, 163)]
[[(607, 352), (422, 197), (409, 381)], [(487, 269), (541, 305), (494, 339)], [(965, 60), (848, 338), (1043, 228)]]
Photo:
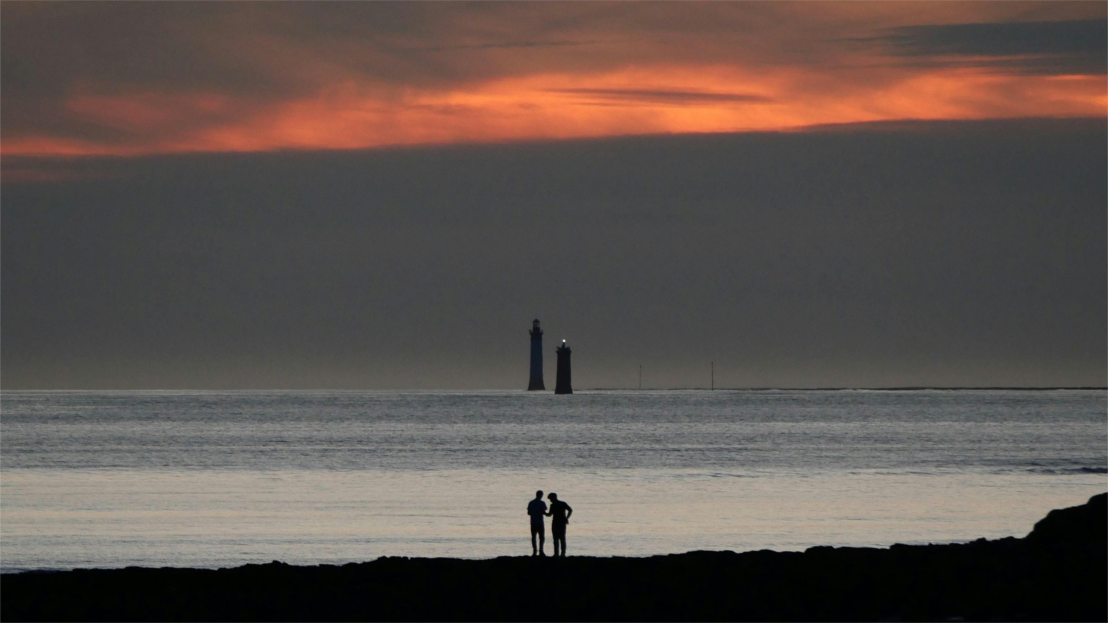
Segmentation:
[(1106, 23), (4, 1), (4, 386), (1100, 386)]

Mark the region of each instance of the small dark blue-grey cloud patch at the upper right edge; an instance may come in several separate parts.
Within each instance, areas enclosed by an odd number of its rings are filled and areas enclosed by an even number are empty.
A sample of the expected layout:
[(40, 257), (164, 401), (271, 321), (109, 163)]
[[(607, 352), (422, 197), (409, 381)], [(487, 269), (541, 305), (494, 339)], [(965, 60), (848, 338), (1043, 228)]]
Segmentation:
[(924, 64), (974, 64), (1030, 73), (1106, 72), (1108, 21), (1104, 19), (907, 25), (883, 37), (863, 39), (888, 44), (903, 56), (1025, 56), (975, 61), (923, 61)]

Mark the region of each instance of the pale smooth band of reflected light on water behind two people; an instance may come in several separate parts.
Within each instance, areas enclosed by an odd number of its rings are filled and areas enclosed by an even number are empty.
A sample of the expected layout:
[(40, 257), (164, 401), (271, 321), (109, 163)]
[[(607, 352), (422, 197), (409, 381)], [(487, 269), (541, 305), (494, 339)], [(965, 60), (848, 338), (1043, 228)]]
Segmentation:
[[(10, 470), (3, 568), (228, 567), (530, 553), (536, 488), (571, 554), (802, 550), (1022, 537), (1104, 477), (1045, 474)], [(1063, 485), (1063, 486), (1059, 486)]]

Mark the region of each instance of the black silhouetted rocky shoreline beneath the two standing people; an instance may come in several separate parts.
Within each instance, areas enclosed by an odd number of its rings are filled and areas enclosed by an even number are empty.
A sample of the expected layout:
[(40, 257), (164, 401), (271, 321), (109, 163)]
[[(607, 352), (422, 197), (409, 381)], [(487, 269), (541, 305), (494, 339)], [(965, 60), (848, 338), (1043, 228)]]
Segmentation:
[(9, 573), (4, 621), (1106, 621), (1108, 494), (1023, 539)]

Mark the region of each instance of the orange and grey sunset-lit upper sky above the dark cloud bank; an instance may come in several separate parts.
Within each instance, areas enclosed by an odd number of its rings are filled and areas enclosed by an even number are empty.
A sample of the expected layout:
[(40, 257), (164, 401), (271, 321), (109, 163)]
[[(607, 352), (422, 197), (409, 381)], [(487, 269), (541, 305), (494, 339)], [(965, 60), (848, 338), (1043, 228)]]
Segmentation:
[(3, 155), (1102, 116), (1102, 2), (3, 4)]

